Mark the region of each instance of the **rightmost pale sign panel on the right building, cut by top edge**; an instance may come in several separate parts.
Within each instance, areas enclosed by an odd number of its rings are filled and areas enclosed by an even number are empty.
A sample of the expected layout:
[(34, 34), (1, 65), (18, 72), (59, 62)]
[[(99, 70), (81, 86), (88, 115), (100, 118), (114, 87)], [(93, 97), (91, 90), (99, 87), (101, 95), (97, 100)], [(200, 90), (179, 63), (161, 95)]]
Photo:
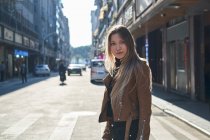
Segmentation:
[(136, 0), (136, 13), (137, 16), (141, 15), (154, 0)]

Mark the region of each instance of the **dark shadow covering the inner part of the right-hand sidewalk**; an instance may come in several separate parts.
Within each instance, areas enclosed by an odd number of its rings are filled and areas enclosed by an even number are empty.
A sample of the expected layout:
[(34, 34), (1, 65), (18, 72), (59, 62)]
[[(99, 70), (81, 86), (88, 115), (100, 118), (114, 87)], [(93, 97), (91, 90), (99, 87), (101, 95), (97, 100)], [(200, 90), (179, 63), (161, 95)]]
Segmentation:
[(190, 97), (179, 95), (178, 93), (166, 92), (162, 87), (158, 86), (153, 86), (152, 95), (210, 121), (208, 103), (193, 101)]

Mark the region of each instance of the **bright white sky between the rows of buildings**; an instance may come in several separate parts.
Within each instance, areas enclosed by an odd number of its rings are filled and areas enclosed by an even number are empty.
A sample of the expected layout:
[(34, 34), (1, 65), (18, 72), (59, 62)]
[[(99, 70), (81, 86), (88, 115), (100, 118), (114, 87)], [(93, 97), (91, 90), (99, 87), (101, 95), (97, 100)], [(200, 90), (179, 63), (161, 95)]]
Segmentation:
[(94, 0), (62, 0), (64, 16), (68, 18), (72, 47), (90, 45), (92, 42), (91, 10)]

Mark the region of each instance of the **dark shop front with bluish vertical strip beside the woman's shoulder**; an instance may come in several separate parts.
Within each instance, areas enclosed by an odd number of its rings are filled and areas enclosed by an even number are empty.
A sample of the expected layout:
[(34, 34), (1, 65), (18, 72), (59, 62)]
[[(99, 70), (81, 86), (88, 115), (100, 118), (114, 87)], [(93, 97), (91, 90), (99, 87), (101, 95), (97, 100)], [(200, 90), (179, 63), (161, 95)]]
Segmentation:
[(162, 32), (157, 29), (136, 39), (136, 49), (140, 57), (145, 58), (152, 71), (152, 81), (163, 84)]

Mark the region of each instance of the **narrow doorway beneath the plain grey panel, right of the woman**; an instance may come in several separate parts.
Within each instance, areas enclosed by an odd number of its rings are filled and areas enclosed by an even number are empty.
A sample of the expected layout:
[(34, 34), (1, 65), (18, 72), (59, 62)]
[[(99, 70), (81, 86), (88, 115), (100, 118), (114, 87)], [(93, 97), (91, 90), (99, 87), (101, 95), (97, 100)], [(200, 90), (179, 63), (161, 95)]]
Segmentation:
[(188, 85), (188, 55), (184, 40), (174, 40), (168, 43), (169, 85), (180, 94), (187, 94)]

